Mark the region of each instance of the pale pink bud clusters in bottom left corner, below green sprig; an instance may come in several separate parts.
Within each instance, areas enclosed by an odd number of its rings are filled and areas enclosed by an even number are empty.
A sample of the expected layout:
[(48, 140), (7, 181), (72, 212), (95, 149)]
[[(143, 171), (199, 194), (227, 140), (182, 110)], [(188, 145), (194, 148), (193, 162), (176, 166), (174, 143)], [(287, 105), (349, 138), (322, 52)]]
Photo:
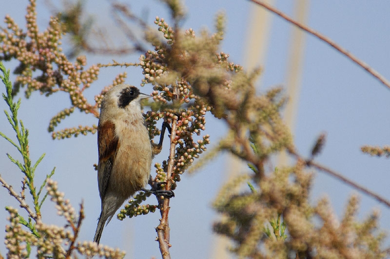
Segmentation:
[[(96, 242), (78, 242), (78, 224), (83, 218), (82, 208), (77, 216), (75, 209), (70, 205), (69, 200), (58, 190), (58, 185), (51, 179), (47, 181), (47, 191), (51, 200), (56, 203), (59, 215), (65, 217), (67, 224), (57, 226), (44, 224), (39, 221), (37, 224), (25, 221), (18, 210), (7, 207), (9, 212), (9, 224), (5, 226), (5, 247), (8, 250), (7, 258), (78, 258), (78, 252), (84, 256), (100, 256), (105, 258), (121, 259), (125, 253), (119, 249), (98, 245)], [(80, 221), (81, 223), (81, 221)], [(23, 224), (29, 224), (26, 229)], [(70, 245), (72, 243), (72, 245)], [(36, 249), (32, 249), (32, 248)], [(66, 250), (68, 249), (68, 250)], [(36, 255), (33, 255), (33, 254)]]

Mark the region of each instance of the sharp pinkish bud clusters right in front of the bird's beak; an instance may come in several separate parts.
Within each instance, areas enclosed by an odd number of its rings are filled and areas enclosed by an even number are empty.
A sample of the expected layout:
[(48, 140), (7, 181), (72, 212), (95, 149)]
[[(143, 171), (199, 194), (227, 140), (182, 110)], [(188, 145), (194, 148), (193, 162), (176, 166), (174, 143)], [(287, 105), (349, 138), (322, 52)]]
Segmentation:
[[(163, 18), (156, 17), (155, 23), (158, 25), (158, 31), (164, 34), (166, 40), (174, 40), (174, 31)], [(186, 31), (186, 36), (195, 38), (195, 32), (190, 29)], [(186, 76), (176, 79), (172, 77), (171, 74), (175, 75), (176, 71), (170, 70), (170, 65), (166, 60), (166, 53), (170, 51), (170, 46), (174, 48), (174, 45), (171, 45), (170, 42), (167, 42), (166, 45), (163, 43), (156, 44), (155, 51), (148, 51), (145, 55), (141, 55), (139, 64), (145, 75), (141, 86), (146, 83), (152, 84), (154, 86), (153, 99), (160, 105), (158, 110), (152, 107), (152, 111), (148, 111), (144, 115), (151, 138), (160, 134), (156, 121), (160, 119), (164, 119), (169, 123), (176, 121), (176, 138), (174, 140), (176, 152), (173, 170), (174, 183), (172, 186), (174, 190), (176, 182), (180, 181), (180, 174), (184, 173), (195, 158), (206, 151), (206, 145), (210, 143), (209, 135), (205, 135), (200, 139), (197, 136), (200, 136), (201, 132), (205, 130), (205, 115), (211, 111), (212, 107), (195, 94)], [(219, 63), (227, 68), (228, 55), (223, 52), (222, 55)], [(189, 56), (191, 55), (183, 52), (177, 57), (182, 58), (183, 62), (187, 62), (186, 59)], [(218, 65), (217, 60), (215, 60), (215, 66)], [(170, 82), (170, 84), (167, 82)], [(162, 165), (156, 164), (156, 182), (166, 181), (167, 166), (166, 160), (162, 162)]]

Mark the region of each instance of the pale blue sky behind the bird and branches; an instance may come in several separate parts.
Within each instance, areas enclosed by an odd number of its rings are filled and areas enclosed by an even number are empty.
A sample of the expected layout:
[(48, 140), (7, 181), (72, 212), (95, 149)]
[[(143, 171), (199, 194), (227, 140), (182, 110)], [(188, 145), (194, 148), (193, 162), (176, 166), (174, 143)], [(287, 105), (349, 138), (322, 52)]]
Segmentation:
[[(111, 20), (108, 1), (85, 2), (88, 13), (94, 16), (96, 23), (110, 28), (108, 37), (112, 42), (123, 42), (124, 39), (115, 36), (120, 32)], [(169, 17), (157, 1), (127, 2), (134, 8), (135, 13), (145, 14), (144, 19), (151, 26), (154, 25), (154, 17)], [(47, 26), (49, 10), (45, 1), (38, 0), (37, 3), (38, 25), (40, 30), (43, 30)], [(293, 16), (293, 3), (294, 1), (279, 0), (273, 4), (279, 10)], [(213, 31), (215, 14), (221, 10), (226, 13), (226, 35), (221, 51), (229, 53), (231, 61), (245, 67), (245, 56), (248, 54), (247, 35), (257, 33), (249, 29), (251, 28), (249, 13), (254, 4), (244, 0), (197, 0), (186, 1), (185, 4), (188, 18), (182, 27), (193, 28), (196, 33), (203, 28)], [(0, 0), (0, 5), (2, 6), (0, 17), (10, 14), (20, 26), (24, 26), (26, 0)], [(328, 36), (389, 79), (389, 10), (390, 1), (373, 3), (366, 0), (315, 0), (310, 1), (307, 25)], [(271, 17), (267, 58), (262, 64), (258, 64), (263, 68), (259, 92), (272, 86), (287, 87), (286, 73), (292, 25), (274, 15)], [(65, 41), (63, 45), (66, 50)], [(113, 58), (119, 62), (137, 62), (138, 56), (107, 57), (87, 54), (88, 66), (98, 62), (106, 63)], [(5, 66), (12, 71), (16, 64), (9, 62)], [(142, 74), (138, 68), (101, 69), (99, 80), (87, 92), (91, 102), (102, 87), (111, 84), (117, 73), (123, 71), (128, 73), (126, 83), (139, 86)], [(293, 129), (298, 151), (303, 155), (309, 155), (317, 136), (326, 132), (327, 142), (317, 161), (389, 199), (389, 160), (365, 155), (360, 151), (360, 147), (366, 144), (380, 146), (388, 144), (390, 119), (386, 114), (390, 110), (390, 90), (364, 69), (311, 35), (306, 36), (300, 88), (296, 126)], [(151, 93), (152, 86), (147, 85), (141, 90)], [(0, 92), (4, 92), (4, 88), (0, 88)], [(81, 201), (84, 203), (85, 219), (79, 241), (92, 240), (100, 213), (97, 176), (93, 169), (93, 164), (98, 160), (97, 135), (52, 140), (51, 134), (47, 132), (48, 123), (59, 110), (70, 106), (68, 96), (55, 94), (45, 98), (35, 92), (29, 100), (26, 100), (22, 93), (18, 97), (22, 98), (19, 118), (30, 131), (30, 154), (33, 161), (42, 153), (46, 153), (37, 169), (37, 183), (56, 167), (53, 179), (59, 182), (59, 190), (65, 192), (65, 197), (70, 199), (74, 207), (78, 208)], [(0, 110), (6, 108), (4, 102), (0, 102)], [(2, 121), (0, 131), (14, 137), (15, 134), (6, 123), (4, 115), (0, 114), (0, 121)], [(76, 111), (73, 116), (61, 122), (58, 129), (97, 123), (98, 120), (92, 116)], [(209, 116), (204, 134), (211, 135), (211, 146), (224, 132), (226, 132), (224, 124)], [(20, 159), (16, 150), (4, 139), (0, 139), (0, 174), (19, 190), (21, 173), (8, 160), (6, 153)], [(161, 155), (154, 161), (160, 162), (166, 159), (167, 155), (168, 149), (165, 145)], [(211, 226), (218, 215), (213, 211), (211, 204), (227, 178), (227, 158), (227, 155), (220, 155), (198, 173), (182, 175), (175, 191), (176, 196), (170, 203), (172, 258), (212, 258), (216, 236), (212, 233)], [(316, 173), (312, 201), (315, 202), (323, 196), (329, 197), (334, 211), (340, 216), (348, 197), (356, 192), (324, 173)], [(368, 216), (372, 209), (379, 209), (381, 227), (389, 232), (389, 208), (363, 194), (359, 193), (359, 196), (361, 197), (359, 218)], [(150, 203), (154, 202), (155, 200), (150, 200)], [(8, 205), (19, 207), (5, 189), (0, 189), (0, 207)], [(6, 224), (7, 216), (5, 210), (0, 210), (2, 225)], [(159, 218), (159, 213), (130, 220), (126, 218), (123, 222), (114, 218), (105, 227), (101, 243), (126, 250), (126, 258), (159, 258), (154, 229)], [(63, 224), (49, 200), (43, 206), (43, 221), (49, 224)], [(1, 235), (3, 236), (4, 232)], [(387, 241), (387, 244), (389, 243)], [(3, 242), (0, 242), (0, 251), (5, 255)]]

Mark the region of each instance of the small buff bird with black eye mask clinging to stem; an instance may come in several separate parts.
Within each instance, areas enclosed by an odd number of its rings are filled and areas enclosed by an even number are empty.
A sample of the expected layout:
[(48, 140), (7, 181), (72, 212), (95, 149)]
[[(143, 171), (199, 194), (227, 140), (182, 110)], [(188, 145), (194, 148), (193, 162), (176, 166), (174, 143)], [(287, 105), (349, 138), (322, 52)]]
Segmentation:
[(140, 101), (149, 97), (135, 86), (121, 84), (111, 88), (101, 102), (98, 123), (101, 213), (94, 242), (99, 243), (104, 224), (110, 222), (124, 201), (148, 183), (152, 144)]

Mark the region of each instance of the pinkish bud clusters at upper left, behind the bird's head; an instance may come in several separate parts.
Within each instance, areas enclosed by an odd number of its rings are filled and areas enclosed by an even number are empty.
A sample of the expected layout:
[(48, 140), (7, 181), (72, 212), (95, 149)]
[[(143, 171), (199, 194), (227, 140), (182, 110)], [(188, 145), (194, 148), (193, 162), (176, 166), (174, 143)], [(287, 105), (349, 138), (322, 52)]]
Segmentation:
[[(69, 95), (71, 108), (59, 111), (49, 123), (53, 132), (61, 120), (74, 109), (99, 116), (98, 109), (104, 93), (112, 86), (123, 83), (126, 74), (119, 74), (111, 86), (95, 96), (95, 104), (88, 102), (84, 90), (98, 79), (99, 67), (92, 65), (86, 68), (84, 55), (76, 57), (75, 62), (68, 60), (61, 49), (61, 38), (65, 34), (58, 17), (51, 17), (48, 27), (40, 32), (37, 25), (36, 1), (30, 0), (25, 16), (27, 30), (23, 31), (10, 16), (4, 18), (6, 28), (0, 30), (0, 60), (17, 59), (20, 64), (15, 69), (17, 75), (14, 91), (26, 86), (27, 97), (33, 91), (50, 95), (66, 92)], [(53, 138), (69, 138), (79, 134), (94, 133), (93, 127), (64, 129), (53, 133)]]

